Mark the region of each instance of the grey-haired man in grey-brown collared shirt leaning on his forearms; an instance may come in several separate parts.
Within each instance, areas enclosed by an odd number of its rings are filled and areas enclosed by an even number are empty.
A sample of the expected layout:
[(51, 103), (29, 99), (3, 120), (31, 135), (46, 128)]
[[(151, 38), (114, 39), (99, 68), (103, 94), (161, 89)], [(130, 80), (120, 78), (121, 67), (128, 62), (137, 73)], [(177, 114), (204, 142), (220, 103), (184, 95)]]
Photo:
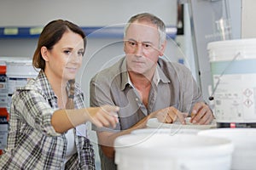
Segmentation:
[(113, 141), (118, 136), (145, 127), (149, 118), (185, 124), (212, 122), (212, 111), (189, 69), (170, 63), (163, 56), (166, 26), (153, 14), (137, 14), (125, 27), (125, 57), (90, 82), (90, 105), (119, 106), (119, 124), (94, 128), (97, 132), (102, 169), (115, 169)]

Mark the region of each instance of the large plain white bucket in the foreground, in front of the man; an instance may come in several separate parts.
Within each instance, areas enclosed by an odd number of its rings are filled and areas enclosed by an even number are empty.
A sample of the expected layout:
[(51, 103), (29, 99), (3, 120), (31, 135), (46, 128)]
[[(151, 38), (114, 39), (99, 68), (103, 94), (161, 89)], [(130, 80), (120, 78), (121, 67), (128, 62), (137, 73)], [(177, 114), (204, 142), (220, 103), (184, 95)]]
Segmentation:
[(228, 139), (192, 134), (128, 134), (115, 139), (119, 170), (229, 170), (233, 144)]

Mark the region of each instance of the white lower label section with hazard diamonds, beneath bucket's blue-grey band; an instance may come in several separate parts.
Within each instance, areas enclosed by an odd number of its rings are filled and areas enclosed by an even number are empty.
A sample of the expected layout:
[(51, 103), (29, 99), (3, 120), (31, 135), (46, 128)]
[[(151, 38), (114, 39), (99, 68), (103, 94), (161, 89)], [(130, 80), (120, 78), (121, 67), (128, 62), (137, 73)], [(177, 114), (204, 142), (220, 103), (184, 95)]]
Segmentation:
[[(219, 75), (213, 75), (213, 83)], [(217, 122), (256, 122), (256, 74), (220, 77), (214, 94)]]

